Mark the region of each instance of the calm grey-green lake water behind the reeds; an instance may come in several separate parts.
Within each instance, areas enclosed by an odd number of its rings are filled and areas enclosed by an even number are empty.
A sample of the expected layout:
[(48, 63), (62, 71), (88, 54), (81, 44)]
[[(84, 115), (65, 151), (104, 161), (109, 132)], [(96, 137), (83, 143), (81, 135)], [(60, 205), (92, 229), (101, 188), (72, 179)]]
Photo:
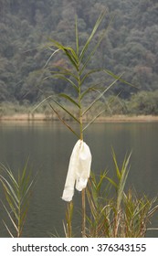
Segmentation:
[[(105, 169), (113, 174), (111, 147), (121, 164), (130, 154), (131, 170), (127, 185), (149, 197), (158, 194), (158, 123), (94, 123), (85, 133), (85, 142), (92, 154), (92, 170)], [(68, 171), (68, 161), (77, 139), (66, 127), (56, 122), (0, 123), (0, 162), (16, 173), (26, 160), (37, 174), (31, 197), (24, 237), (63, 236), (66, 203), (61, 199)], [(74, 199), (79, 201), (79, 193)], [(0, 237), (8, 234), (2, 223), (0, 207)], [(75, 218), (74, 218), (75, 219)], [(158, 228), (158, 213), (153, 219)], [(148, 231), (148, 237), (158, 237), (158, 230)]]

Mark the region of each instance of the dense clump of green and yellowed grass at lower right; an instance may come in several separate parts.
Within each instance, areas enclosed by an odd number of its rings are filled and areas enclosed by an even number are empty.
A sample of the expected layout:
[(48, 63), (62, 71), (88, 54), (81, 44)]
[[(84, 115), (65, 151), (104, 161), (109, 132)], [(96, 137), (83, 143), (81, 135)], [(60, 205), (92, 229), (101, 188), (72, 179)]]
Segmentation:
[[(91, 174), (86, 194), (90, 206), (87, 214), (86, 236), (91, 238), (143, 238), (151, 218), (158, 210), (157, 198), (138, 196), (132, 188), (125, 188), (130, 156), (121, 168), (112, 152), (115, 176), (107, 172)], [(152, 229), (152, 228), (151, 228)]]

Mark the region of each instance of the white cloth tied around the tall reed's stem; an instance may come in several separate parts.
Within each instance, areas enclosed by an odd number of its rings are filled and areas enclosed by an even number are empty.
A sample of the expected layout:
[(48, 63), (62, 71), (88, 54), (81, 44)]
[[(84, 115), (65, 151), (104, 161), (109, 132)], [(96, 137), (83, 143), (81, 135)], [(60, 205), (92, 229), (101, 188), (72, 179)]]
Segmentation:
[(68, 175), (62, 195), (63, 200), (68, 202), (72, 200), (75, 184), (76, 189), (79, 191), (87, 186), (90, 177), (90, 166), (90, 147), (79, 140), (75, 144), (69, 159)]

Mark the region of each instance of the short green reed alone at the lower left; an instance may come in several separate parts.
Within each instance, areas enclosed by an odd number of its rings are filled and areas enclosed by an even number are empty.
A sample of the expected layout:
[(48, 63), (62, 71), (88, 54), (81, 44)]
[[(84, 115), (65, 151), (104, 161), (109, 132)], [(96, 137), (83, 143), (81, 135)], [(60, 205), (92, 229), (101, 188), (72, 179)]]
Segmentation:
[(26, 222), (34, 180), (31, 180), (31, 172), (27, 170), (27, 162), (23, 170), (18, 171), (17, 177), (14, 172), (5, 165), (1, 164), (0, 169), (0, 182), (4, 188), (5, 194), (5, 202), (2, 201), (2, 204), (5, 208), (6, 216), (8, 217), (8, 219), (3, 220), (3, 222), (9, 235), (12, 238), (19, 238), (22, 236)]

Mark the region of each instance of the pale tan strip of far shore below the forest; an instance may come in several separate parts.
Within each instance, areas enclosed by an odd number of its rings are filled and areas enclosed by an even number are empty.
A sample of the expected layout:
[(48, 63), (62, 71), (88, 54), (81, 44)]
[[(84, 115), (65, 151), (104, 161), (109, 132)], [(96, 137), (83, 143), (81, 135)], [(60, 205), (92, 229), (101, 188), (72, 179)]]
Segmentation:
[[(28, 115), (26, 113), (16, 113), (13, 115), (4, 115), (0, 117), (0, 122), (16, 122), (16, 121), (58, 121), (58, 118), (46, 116), (43, 113), (35, 113), (34, 115)], [(83, 120), (85, 123), (87, 120)], [(112, 116), (101, 116), (95, 123), (115, 123), (115, 122), (158, 122), (158, 116), (154, 115), (112, 115)]]

